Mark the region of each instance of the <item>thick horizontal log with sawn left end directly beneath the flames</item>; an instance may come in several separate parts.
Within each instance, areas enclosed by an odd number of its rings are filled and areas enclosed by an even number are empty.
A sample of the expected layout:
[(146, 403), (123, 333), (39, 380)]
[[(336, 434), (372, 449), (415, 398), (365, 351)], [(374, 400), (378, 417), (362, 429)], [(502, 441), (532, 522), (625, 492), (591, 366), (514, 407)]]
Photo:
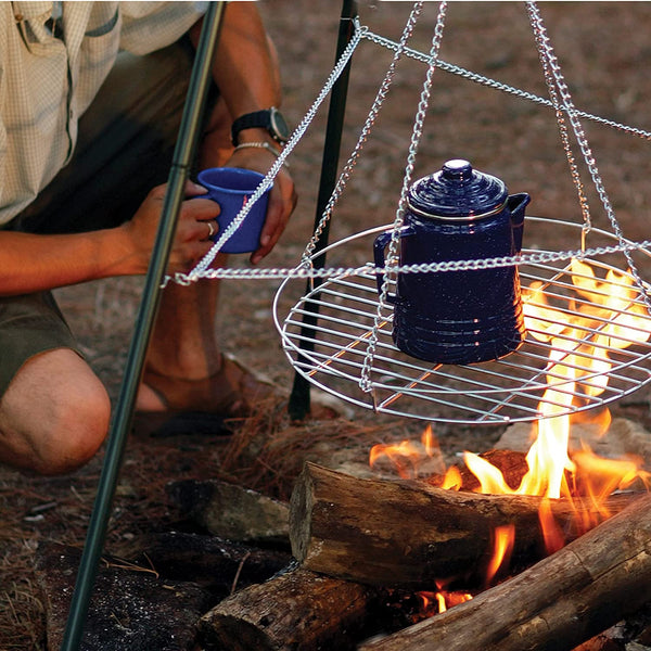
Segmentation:
[[(605, 508), (617, 513), (634, 498), (613, 496)], [(547, 556), (538, 523), (541, 499), (359, 480), (307, 463), (291, 500), (292, 552), (305, 570), (368, 585), (431, 590), (436, 580), (455, 578), (476, 587), (498, 526), (515, 525), (512, 569)], [(583, 533), (577, 520), (589, 503), (554, 499), (549, 507), (566, 541)]]

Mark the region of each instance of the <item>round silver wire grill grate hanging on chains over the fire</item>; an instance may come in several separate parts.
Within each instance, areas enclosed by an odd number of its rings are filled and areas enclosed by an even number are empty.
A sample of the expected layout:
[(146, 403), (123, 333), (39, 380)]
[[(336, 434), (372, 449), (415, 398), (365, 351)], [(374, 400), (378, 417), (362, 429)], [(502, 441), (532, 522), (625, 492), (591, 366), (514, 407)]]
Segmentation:
[[(527, 217), (532, 220), (549, 221)], [(331, 245), (329, 256), (379, 230)], [(609, 261), (584, 259), (572, 269), (567, 261), (519, 267), (523, 289), (524, 289), (524, 343), (496, 361), (446, 366), (409, 357), (394, 346), (392, 307), (382, 306), (372, 391), (363, 392), (360, 378), (379, 307), (373, 270), (368, 264), (329, 278), (288, 308), (286, 316), (280, 315), (281, 306), (296, 281), (285, 280), (275, 301), (292, 366), (358, 406), (442, 422), (529, 421), (605, 405), (651, 379), (651, 317), (634, 279)], [(315, 306), (318, 319), (306, 327), (304, 318), (311, 318)]]

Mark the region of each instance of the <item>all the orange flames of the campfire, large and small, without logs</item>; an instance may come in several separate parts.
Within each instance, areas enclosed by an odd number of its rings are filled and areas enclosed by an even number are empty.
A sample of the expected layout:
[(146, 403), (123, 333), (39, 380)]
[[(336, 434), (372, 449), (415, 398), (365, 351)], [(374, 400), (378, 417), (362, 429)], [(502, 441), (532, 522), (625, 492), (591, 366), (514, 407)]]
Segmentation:
[[(647, 490), (651, 487), (651, 473), (641, 469), (640, 459), (603, 459), (586, 445), (582, 450), (570, 448), (571, 408), (580, 405), (577, 400), (598, 397), (605, 391), (612, 367), (610, 350), (644, 343), (651, 336), (651, 317), (637, 301), (639, 291), (629, 273), (609, 270), (602, 281), (589, 264), (576, 259), (571, 261), (570, 271), (575, 294), (570, 299), (570, 309), (551, 305), (541, 282), (523, 288), (528, 334), (550, 348), (545, 369), (547, 388), (538, 404), (541, 418), (536, 422), (537, 436), (526, 455), (527, 472), (520, 485), (512, 488), (493, 463), (469, 451), (463, 455), (465, 465), (480, 482), (478, 493), (544, 498), (538, 518), (548, 553), (565, 544), (563, 532), (553, 519), (550, 499), (588, 497), (592, 508), (576, 509), (582, 518), (579, 531), (588, 531), (610, 516), (604, 500), (613, 490), (636, 482)], [(608, 409), (601, 418), (605, 432), (610, 424)], [(422, 445), (427, 455), (438, 449), (430, 426), (423, 432)], [(400, 476), (406, 476), (409, 469), (411, 476), (416, 476), (422, 451), (407, 441), (378, 445), (371, 450), (371, 467), (382, 456), (396, 463)], [(459, 469), (454, 465), (447, 469), (442, 486), (458, 490), (461, 484)], [(508, 564), (514, 539), (513, 525), (496, 527), (486, 585)], [(444, 612), (472, 598), (462, 592), (447, 592), (438, 583), (436, 587), (436, 592), (420, 593), (425, 609), (436, 601), (437, 611)]]

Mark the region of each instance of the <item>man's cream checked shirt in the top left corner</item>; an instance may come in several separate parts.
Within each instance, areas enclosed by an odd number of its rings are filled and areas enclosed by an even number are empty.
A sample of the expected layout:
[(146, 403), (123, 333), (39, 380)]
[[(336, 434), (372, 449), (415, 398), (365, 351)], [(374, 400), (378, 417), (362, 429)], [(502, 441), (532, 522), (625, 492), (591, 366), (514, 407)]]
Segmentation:
[(118, 50), (164, 48), (199, 20), (195, 2), (0, 2), (0, 225), (69, 159), (77, 123)]

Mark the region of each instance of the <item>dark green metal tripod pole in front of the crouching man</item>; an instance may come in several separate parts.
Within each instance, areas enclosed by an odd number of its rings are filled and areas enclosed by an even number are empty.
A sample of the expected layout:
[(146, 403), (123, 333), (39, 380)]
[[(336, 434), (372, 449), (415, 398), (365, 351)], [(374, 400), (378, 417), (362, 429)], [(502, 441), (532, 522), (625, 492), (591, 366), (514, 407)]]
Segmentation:
[(186, 181), (190, 173), (190, 165), (199, 140), (199, 129), (202, 123), (207, 89), (210, 84), (210, 65), (219, 37), (224, 5), (225, 2), (210, 2), (204, 17), (204, 25), (196, 49), (188, 97), (183, 107), (181, 126), (179, 128), (174, 159), (169, 173), (167, 193), (163, 203), (161, 225), (152, 251), (152, 259), (145, 278), (143, 295), (127, 357), (120, 394), (116, 405), (108, 442), (106, 444), (106, 455), (102, 465), (102, 473), (98, 484), (93, 510), (88, 525), (86, 545), (79, 563), (77, 582), (73, 593), (61, 651), (77, 650), (81, 643), (84, 625), (88, 615), (88, 608), (94, 587), (98, 565), (104, 549), (106, 529), (113, 510), (113, 498), (119, 469), (122, 467), (127, 435), (131, 427), (136, 395), (138, 393), (146, 348), (158, 308), (161, 284), (163, 283), (171, 243), (174, 241), (180, 205), (184, 199)]

